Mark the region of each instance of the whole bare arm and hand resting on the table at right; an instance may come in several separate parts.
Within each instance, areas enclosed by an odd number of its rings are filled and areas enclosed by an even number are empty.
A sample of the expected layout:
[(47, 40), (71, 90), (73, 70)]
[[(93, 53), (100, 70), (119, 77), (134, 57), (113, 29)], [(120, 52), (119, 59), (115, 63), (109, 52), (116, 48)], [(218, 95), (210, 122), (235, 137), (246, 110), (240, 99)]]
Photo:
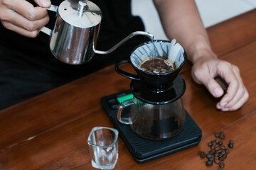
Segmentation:
[[(242, 84), (239, 69), (233, 64), (218, 60), (211, 50), (195, 1), (154, 0), (154, 4), (167, 37), (170, 40), (175, 38), (186, 50), (188, 60), (193, 63), (193, 79), (198, 84), (204, 84), (216, 98), (222, 96), (216, 107), (221, 111), (240, 108), (249, 95)], [(215, 77), (220, 77), (228, 84), (225, 94)]]

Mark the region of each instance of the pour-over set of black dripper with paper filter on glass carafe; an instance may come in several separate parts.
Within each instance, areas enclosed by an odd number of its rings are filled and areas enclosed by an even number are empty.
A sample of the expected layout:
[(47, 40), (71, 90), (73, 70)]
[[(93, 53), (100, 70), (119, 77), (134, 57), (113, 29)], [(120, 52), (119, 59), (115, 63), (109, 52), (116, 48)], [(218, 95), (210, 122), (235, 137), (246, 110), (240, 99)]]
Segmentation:
[[(140, 64), (160, 57), (175, 65), (171, 72), (145, 72)], [(139, 45), (130, 56), (116, 64), (116, 71), (132, 79), (130, 84), (134, 98), (119, 105), (117, 120), (130, 125), (137, 135), (149, 140), (166, 140), (181, 132), (186, 120), (181, 96), (186, 89), (185, 81), (178, 75), (186, 61), (186, 52), (176, 40), (154, 40)], [(122, 64), (132, 64), (137, 74), (121, 69)], [(124, 116), (124, 108), (129, 115)]]

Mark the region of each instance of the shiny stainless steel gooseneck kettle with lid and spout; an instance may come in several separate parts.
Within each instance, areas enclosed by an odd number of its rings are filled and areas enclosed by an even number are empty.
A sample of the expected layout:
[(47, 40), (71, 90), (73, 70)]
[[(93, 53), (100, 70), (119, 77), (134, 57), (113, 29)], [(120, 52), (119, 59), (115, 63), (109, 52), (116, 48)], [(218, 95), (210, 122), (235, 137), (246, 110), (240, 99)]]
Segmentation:
[(43, 27), (41, 31), (50, 36), (50, 51), (53, 56), (67, 64), (84, 64), (93, 55), (107, 55), (135, 35), (144, 35), (151, 40), (153, 35), (136, 31), (114, 45), (110, 50), (96, 50), (100, 32), (102, 11), (87, 0), (65, 0), (60, 6), (51, 5), (48, 11), (57, 13), (53, 30)]

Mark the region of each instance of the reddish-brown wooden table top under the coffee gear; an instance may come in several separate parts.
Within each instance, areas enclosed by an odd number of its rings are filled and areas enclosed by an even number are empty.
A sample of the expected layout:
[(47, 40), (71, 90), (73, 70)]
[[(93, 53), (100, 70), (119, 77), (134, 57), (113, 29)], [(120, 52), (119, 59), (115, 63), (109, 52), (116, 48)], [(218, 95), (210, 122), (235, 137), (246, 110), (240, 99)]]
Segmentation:
[[(250, 100), (238, 111), (216, 110), (216, 100), (193, 83), (186, 64), (181, 72), (186, 81), (183, 104), (203, 132), (199, 145), (138, 164), (119, 138), (115, 169), (206, 169), (198, 152), (208, 149), (215, 131), (235, 141), (225, 169), (255, 169), (256, 10), (210, 27), (208, 33), (219, 57), (240, 67)], [(92, 169), (87, 136), (95, 126), (113, 127), (100, 98), (129, 89), (129, 83), (111, 66), (1, 111), (0, 169)]]

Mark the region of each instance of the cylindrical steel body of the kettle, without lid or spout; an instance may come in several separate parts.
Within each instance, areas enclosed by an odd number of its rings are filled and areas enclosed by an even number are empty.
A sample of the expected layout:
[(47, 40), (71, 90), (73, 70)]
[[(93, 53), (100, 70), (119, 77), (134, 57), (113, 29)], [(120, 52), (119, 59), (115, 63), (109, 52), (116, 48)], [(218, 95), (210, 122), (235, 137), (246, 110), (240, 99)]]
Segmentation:
[(83, 64), (95, 54), (100, 23), (90, 28), (78, 28), (58, 16), (50, 38), (50, 50), (60, 61), (67, 64)]

